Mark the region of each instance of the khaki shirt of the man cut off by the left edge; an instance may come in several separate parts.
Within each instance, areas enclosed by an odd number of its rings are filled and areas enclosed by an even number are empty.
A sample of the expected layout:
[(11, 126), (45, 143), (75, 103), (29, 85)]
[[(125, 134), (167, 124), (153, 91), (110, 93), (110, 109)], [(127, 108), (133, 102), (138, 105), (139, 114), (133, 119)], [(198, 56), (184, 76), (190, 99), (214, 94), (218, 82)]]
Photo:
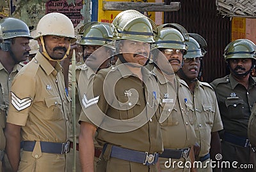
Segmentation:
[(12, 81), (15, 75), (20, 71), (24, 64), (16, 64), (13, 67), (12, 73), (8, 73), (4, 68), (3, 64), (0, 62), (0, 150), (5, 148), (5, 137), (4, 137), (4, 127), (6, 122), (7, 110), (9, 107), (9, 92), (12, 86)]

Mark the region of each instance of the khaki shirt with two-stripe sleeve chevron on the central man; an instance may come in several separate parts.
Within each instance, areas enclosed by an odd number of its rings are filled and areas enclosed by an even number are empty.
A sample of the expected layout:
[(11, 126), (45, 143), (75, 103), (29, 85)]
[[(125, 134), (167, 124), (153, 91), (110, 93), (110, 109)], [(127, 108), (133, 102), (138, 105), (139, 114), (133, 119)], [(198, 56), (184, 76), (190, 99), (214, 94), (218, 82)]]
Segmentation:
[(87, 92), (88, 104), (86, 108), (83, 105), (79, 121), (95, 124), (100, 145), (109, 143), (150, 154), (163, 151), (156, 115), (159, 113), (156, 78), (145, 68), (142, 76), (143, 82), (124, 64), (101, 69), (95, 75), (93, 93)]

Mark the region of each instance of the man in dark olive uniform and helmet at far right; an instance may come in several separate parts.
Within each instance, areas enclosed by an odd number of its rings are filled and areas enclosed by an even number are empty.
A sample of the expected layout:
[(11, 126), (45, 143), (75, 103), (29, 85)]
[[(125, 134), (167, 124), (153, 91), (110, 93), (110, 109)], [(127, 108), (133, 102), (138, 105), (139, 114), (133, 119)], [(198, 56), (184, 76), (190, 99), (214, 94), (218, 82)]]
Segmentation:
[[(218, 100), (223, 131), (220, 133), (222, 161), (238, 164), (222, 171), (256, 171), (256, 156), (247, 129), (256, 97), (255, 80), (250, 72), (255, 67), (256, 46), (248, 39), (237, 39), (227, 45), (224, 58), (230, 75), (211, 83)], [(241, 164), (253, 164), (253, 169), (244, 169)]]

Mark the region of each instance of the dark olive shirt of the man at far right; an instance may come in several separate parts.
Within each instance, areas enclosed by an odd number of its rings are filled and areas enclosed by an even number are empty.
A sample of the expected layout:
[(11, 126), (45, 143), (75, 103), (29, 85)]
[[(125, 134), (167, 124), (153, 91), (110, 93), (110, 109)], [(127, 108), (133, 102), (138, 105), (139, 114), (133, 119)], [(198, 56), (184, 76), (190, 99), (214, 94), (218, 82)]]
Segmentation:
[(253, 78), (249, 78), (248, 89), (232, 75), (214, 80), (211, 86), (216, 93), (225, 131), (247, 138), (248, 120), (256, 97)]

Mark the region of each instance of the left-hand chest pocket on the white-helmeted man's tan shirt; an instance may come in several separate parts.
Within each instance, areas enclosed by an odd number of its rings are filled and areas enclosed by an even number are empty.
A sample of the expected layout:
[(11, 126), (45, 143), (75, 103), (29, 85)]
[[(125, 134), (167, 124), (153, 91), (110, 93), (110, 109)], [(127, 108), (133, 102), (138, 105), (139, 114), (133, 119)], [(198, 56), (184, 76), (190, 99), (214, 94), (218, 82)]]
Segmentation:
[(45, 97), (45, 104), (47, 109), (45, 110), (46, 120), (59, 120), (63, 118), (61, 114), (62, 111), (62, 101), (59, 96)]

